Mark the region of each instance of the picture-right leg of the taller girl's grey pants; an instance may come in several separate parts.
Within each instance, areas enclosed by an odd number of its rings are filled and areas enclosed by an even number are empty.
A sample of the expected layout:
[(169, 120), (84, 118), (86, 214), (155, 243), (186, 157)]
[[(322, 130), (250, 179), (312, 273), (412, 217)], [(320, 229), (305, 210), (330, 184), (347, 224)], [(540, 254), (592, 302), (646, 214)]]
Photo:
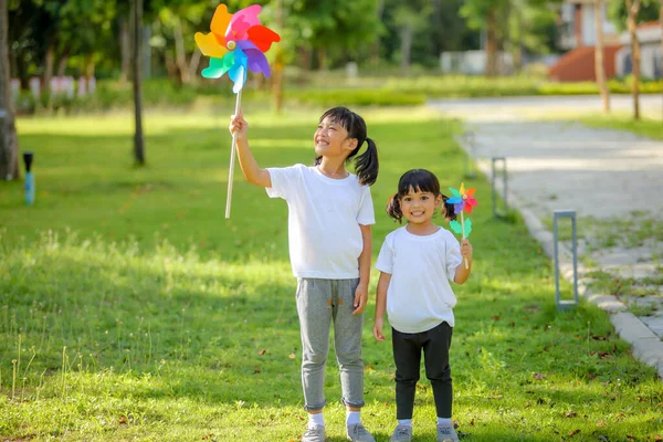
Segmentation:
[(350, 410), (364, 407), (361, 332), (364, 314), (352, 315), (359, 280), (335, 280), (333, 286), (334, 347), (340, 370), (343, 403)]

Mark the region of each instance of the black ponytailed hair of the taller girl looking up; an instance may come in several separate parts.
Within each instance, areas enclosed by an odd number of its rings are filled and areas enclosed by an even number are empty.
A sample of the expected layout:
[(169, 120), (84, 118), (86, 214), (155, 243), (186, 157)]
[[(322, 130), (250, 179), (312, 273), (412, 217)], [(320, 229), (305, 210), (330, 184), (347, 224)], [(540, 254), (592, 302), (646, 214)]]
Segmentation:
[[(366, 141), (366, 151), (355, 158), (355, 172), (359, 177), (359, 182), (364, 186), (371, 186), (378, 179), (378, 147), (376, 143), (366, 136), (366, 122), (358, 114), (347, 107), (337, 106), (325, 112), (320, 117), (323, 119), (329, 117), (335, 123), (340, 124), (347, 131), (350, 138), (357, 138), (357, 147), (347, 156), (346, 162), (357, 155), (364, 141)], [(318, 166), (323, 161), (319, 156), (314, 160), (314, 166)]]

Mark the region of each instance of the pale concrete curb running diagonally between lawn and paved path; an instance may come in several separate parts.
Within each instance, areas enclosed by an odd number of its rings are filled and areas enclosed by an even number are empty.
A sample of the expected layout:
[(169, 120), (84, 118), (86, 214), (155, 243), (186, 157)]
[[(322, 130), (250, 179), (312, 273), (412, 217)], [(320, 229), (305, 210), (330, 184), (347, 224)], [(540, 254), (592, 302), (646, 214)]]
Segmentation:
[[(491, 181), (491, 168), (484, 161), (478, 161), (480, 158), (473, 158), (471, 156), (471, 150), (467, 148), (467, 146), (465, 146), (464, 143), (461, 143), (460, 139), (457, 139), (456, 143), (461, 146), (465, 154), (474, 160), (474, 164), (486, 177), (486, 179)], [(516, 209), (520, 213), (529, 234), (539, 242), (544, 252), (551, 260), (554, 260), (555, 241), (552, 233), (545, 228), (538, 217), (534, 214), (532, 210), (527, 209), (523, 201), (520, 201), (511, 190), (507, 190), (506, 196), (503, 194), (504, 192), (502, 189), (496, 189), (496, 191), (503, 199), (507, 198), (509, 208)], [(571, 256), (571, 252), (564, 245), (564, 243), (558, 244), (558, 252), (560, 255)], [(582, 271), (586, 270), (587, 269), (583, 267), (579, 262), (578, 274), (580, 275)], [(560, 263), (559, 273), (561, 277), (567, 278), (571, 283), (573, 282), (572, 264), (565, 265)], [(649, 329), (649, 327), (635, 315), (627, 312), (628, 307), (615, 296), (591, 293), (580, 277), (578, 277), (578, 294), (610, 314), (610, 322), (612, 323), (614, 330), (620, 338), (631, 345), (632, 355), (641, 362), (654, 367), (656, 369), (659, 379), (663, 381), (663, 340), (661, 340), (651, 329)]]

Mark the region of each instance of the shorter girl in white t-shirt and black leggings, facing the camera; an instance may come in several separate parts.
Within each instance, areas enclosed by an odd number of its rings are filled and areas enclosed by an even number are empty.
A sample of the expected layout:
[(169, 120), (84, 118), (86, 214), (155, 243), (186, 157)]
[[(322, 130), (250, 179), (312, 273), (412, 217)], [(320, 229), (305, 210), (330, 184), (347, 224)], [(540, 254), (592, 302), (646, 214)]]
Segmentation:
[[(396, 417), (390, 441), (412, 439), (412, 411), (421, 354), (431, 381), (438, 412), (438, 441), (457, 441), (451, 421), (452, 382), (449, 347), (456, 298), (449, 281), (463, 284), (472, 270), (472, 245), (433, 223), (441, 211), (455, 219), (453, 204), (440, 192), (438, 178), (428, 170), (406, 172), (387, 206), (387, 213), (408, 223), (385, 239), (376, 267), (380, 271), (373, 336), (385, 340), (385, 312), (389, 316), (396, 362)], [(467, 260), (467, 269), (462, 260)]]

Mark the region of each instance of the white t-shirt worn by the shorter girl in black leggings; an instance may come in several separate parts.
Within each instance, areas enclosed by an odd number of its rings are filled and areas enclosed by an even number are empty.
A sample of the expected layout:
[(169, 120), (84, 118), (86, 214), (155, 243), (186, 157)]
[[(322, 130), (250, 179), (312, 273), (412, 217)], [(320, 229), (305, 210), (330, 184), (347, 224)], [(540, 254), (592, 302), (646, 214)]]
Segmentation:
[(389, 324), (401, 333), (421, 333), (443, 322), (454, 326), (455, 295), (449, 281), (461, 263), (461, 245), (440, 228), (415, 235), (402, 227), (385, 239), (376, 269), (391, 274), (387, 290)]

